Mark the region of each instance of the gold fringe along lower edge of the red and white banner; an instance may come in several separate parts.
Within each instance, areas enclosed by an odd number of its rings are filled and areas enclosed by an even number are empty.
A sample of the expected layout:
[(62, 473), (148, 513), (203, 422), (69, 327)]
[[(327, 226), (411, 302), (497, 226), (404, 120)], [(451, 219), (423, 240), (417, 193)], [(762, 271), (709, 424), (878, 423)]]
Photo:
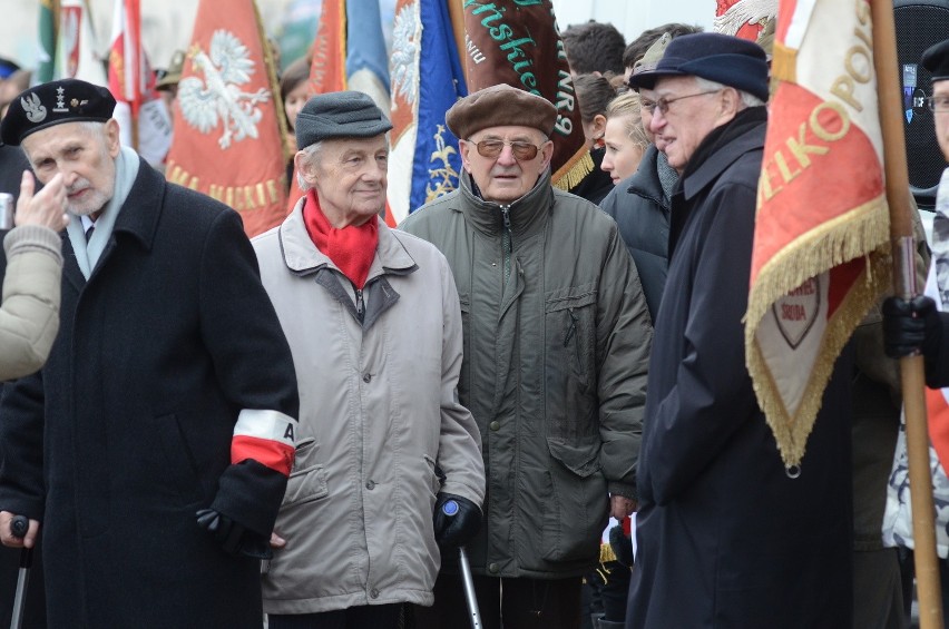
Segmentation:
[[(752, 286), (744, 318), (745, 347), (751, 350), (747, 352), (747, 368), (753, 374), (755, 395), (785, 465), (801, 463), (823, 400), (821, 392), (830, 380), (838, 355), (870, 306), (889, 289), (892, 273), (889, 238), (889, 213), (881, 196), (798, 238), (793, 246), (779, 252), (762, 267)], [(805, 281), (859, 257), (867, 259), (867, 268), (828, 321), (821, 353), (801, 403), (791, 416), (764, 361), (755, 332), (779, 298)]]

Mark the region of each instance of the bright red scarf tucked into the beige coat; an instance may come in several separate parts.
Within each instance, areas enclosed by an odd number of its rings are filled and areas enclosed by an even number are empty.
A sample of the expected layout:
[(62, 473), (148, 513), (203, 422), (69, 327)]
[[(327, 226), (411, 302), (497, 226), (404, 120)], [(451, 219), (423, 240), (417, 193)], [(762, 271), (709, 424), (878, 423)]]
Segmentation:
[(320, 208), (316, 190), (310, 188), (303, 205), (303, 224), (316, 248), (333, 261), (356, 288), (362, 289), (379, 245), (379, 222), (373, 217), (362, 225), (336, 229)]

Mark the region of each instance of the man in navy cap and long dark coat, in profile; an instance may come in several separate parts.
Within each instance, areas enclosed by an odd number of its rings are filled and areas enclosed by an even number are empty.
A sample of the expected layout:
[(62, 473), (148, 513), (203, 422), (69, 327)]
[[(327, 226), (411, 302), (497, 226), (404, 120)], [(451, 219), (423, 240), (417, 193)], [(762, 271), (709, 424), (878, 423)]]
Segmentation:
[(626, 626), (850, 627), (849, 370), (839, 362), (793, 474), (745, 367), (764, 50), (687, 35), (629, 82), (655, 94), (650, 128), (682, 176), (649, 362)]

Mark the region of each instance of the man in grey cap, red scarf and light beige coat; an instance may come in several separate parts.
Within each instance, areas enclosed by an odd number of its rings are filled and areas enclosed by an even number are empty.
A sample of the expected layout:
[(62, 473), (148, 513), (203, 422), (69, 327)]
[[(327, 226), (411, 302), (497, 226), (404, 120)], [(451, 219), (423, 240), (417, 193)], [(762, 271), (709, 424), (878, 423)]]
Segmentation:
[(294, 158), (306, 195), (253, 240), (301, 391), (263, 578), (271, 629), (397, 627), (403, 602), (432, 603), (440, 552), (481, 519), (451, 269), (380, 218), (391, 128), (362, 92), (310, 99)]

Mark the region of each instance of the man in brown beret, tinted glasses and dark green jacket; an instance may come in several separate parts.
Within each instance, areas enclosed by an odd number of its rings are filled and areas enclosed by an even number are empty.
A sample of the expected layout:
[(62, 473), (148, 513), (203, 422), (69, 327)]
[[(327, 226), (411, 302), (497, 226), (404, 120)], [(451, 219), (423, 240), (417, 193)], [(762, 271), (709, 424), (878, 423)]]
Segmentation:
[[(446, 255), (461, 301), (459, 395), (488, 488), (468, 553), (487, 628), (579, 627), (607, 519), (636, 508), (652, 323), (616, 223), (550, 184), (556, 118), (506, 85), (459, 100), (446, 117), (459, 189), (401, 225)], [(446, 558), (418, 626), (458, 627), (462, 592)]]

